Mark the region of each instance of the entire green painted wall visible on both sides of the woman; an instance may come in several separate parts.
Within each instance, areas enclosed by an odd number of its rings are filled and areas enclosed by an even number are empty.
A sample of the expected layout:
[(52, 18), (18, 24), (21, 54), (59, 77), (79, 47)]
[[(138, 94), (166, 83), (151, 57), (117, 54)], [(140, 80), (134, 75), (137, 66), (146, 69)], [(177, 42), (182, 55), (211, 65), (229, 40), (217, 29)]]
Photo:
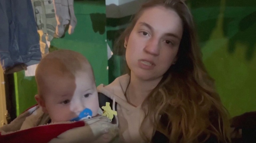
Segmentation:
[[(215, 79), (230, 115), (256, 111), (256, 1), (187, 0), (187, 3), (197, 25), (203, 62)], [(51, 50), (81, 52), (94, 68), (96, 84), (107, 84), (121, 74), (123, 59), (114, 55), (107, 61), (105, 39), (107, 37), (112, 48), (130, 16), (105, 21), (105, 1), (102, 0), (75, 1), (74, 8), (78, 19), (75, 32), (54, 39)], [(34, 77), (24, 77), (24, 71), (15, 74), (19, 114), (35, 104), (37, 91)]]

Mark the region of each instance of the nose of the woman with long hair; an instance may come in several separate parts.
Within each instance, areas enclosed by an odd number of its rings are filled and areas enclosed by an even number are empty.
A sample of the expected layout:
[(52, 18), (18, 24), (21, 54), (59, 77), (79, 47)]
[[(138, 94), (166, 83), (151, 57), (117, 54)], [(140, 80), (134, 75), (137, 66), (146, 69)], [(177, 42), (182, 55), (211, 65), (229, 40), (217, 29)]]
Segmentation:
[(155, 37), (150, 38), (143, 50), (148, 54), (158, 56), (160, 54), (159, 40)]

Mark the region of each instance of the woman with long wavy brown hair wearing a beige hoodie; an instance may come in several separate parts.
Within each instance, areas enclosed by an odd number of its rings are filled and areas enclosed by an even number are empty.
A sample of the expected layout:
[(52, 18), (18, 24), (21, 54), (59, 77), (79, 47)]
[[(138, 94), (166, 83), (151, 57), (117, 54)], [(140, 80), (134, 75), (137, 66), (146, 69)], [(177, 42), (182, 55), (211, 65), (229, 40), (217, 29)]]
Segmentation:
[(97, 89), (117, 102), (120, 142), (230, 141), (185, 3), (145, 3), (116, 44), (129, 72)]

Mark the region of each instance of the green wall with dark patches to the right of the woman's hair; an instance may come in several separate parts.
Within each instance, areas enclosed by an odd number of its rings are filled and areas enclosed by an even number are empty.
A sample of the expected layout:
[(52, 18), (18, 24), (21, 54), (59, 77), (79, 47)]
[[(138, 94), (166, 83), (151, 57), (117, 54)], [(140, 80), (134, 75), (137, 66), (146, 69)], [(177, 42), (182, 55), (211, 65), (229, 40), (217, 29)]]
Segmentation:
[(188, 1), (203, 62), (222, 102), (236, 116), (256, 111), (256, 1)]

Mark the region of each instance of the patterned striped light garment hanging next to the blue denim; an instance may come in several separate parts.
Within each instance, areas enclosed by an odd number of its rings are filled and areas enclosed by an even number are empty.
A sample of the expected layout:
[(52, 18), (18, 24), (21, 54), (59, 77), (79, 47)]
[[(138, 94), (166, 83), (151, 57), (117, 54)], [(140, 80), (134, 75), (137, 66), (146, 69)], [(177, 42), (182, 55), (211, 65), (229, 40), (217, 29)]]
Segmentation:
[(47, 42), (53, 39), (57, 26), (53, 0), (31, 0), (31, 2), (37, 23), (37, 31), (40, 37), (40, 49), (42, 57), (44, 57), (49, 53)]

